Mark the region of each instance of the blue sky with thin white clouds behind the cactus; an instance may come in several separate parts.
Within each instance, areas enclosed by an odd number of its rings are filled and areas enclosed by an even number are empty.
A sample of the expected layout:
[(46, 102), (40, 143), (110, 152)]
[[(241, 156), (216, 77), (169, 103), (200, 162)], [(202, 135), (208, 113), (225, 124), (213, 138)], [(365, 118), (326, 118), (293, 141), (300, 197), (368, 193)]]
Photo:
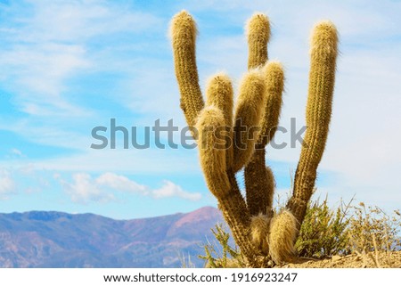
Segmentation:
[[(196, 150), (90, 148), (92, 128), (110, 127), (110, 118), (138, 132), (158, 118), (185, 126), (168, 39), (182, 9), (200, 30), (203, 88), (221, 70), (239, 81), (244, 22), (253, 12), (269, 16), (269, 56), (286, 71), (283, 127), (291, 118), (305, 123), (310, 30), (333, 21), (341, 54), (315, 197), (327, 193), (336, 203), (356, 195), (399, 208), (401, 1), (36, 0), (0, 1), (0, 212), (132, 218), (216, 206)], [(267, 152), (285, 198), (299, 146)]]

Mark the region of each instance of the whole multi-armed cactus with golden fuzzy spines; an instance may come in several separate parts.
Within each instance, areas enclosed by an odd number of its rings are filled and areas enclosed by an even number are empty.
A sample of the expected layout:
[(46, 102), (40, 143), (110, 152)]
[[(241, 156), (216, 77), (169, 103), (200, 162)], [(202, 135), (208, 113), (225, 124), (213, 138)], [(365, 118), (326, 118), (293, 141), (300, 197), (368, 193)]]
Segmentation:
[[(274, 215), (274, 176), (266, 167), (266, 144), (274, 137), (280, 111), (284, 73), (268, 61), (268, 18), (254, 14), (247, 23), (248, 72), (233, 103), (233, 86), (225, 74), (209, 79), (203, 101), (196, 66), (196, 23), (185, 11), (171, 22), (176, 79), (181, 108), (198, 142), (201, 168), (209, 191), (217, 198), (233, 238), (249, 266), (289, 261), (315, 186), (331, 118), (337, 57), (337, 30), (331, 22), (315, 26), (307, 97), (307, 134), (294, 188), (285, 209)], [(195, 132), (196, 131), (196, 132)], [(246, 198), (235, 174), (244, 169)]]

